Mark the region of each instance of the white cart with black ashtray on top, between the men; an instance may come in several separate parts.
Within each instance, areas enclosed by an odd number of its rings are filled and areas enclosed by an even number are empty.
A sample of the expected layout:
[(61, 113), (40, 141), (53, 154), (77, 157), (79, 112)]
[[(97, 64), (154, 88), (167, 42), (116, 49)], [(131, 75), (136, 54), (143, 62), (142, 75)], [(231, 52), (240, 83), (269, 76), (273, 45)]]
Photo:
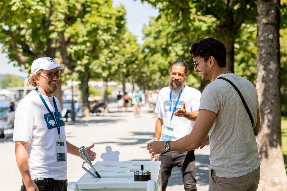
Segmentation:
[[(151, 180), (134, 181), (133, 173), (142, 164), (151, 172)], [(77, 182), (69, 182), (67, 191), (161, 191), (160, 161), (105, 161), (96, 162), (94, 168), (101, 178), (86, 173)]]

